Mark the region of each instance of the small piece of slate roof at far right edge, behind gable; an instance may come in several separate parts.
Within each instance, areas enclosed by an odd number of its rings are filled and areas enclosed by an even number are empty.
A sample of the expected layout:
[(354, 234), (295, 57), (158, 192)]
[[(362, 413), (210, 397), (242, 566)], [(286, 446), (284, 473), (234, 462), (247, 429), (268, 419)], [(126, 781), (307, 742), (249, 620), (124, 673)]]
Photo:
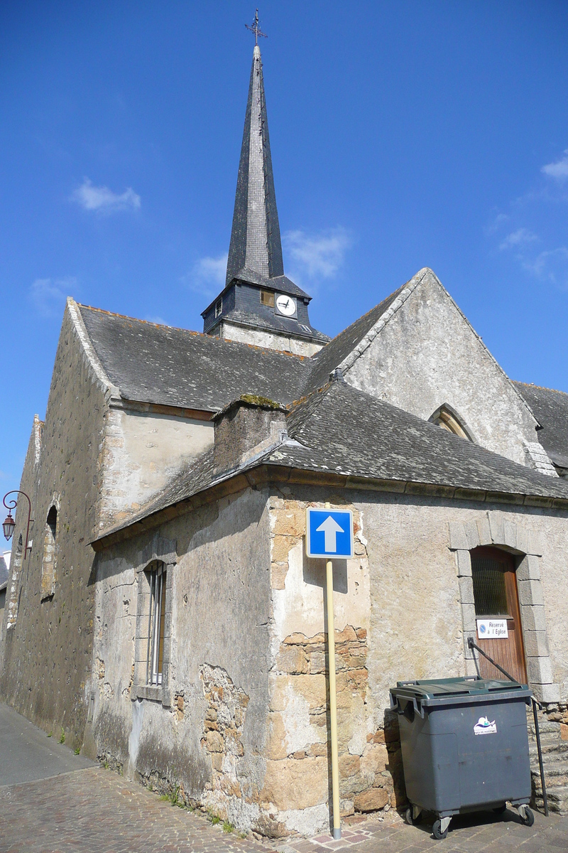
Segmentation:
[(568, 468), (568, 394), (525, 382), (513, 385), (525, 397), (542, 427), (536, 433), (542, 447), (556, 465)]

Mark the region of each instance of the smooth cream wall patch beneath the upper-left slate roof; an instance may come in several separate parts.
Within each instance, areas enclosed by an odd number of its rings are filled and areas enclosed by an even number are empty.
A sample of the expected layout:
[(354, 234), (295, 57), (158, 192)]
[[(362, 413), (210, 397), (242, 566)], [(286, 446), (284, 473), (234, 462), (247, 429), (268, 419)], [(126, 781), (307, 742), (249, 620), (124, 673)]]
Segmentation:
[(213, 445), (213, 423), (111, 406), (101, 454), (98, 527), (135, 513)]

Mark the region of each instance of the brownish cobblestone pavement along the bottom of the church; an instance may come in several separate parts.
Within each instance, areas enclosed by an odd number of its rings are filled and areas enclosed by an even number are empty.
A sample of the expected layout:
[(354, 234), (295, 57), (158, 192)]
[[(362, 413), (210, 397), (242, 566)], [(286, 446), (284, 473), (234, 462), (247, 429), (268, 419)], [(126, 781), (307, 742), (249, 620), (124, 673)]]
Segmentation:
[(352, 821), (340, 842), (325, 836), (274, 845), (226, 833), (200, 812), (177, 809), (134, 782), (99, 767), (0, 787), (1, 853), (520, 853), (568, 850), (568, 817), (536, 814), (533, 827), (513, 810), (499, 818), (454, 818), (445, 841), (425, 822), (408, 827), (391, 812), (384, 821)]

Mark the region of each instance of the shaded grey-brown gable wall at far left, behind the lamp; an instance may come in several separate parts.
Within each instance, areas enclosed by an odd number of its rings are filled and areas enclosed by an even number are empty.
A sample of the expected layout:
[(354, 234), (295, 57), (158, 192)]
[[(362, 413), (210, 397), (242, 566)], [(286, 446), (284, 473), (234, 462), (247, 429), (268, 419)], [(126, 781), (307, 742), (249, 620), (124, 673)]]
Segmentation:
[[(39, 421), (26, 455), (20, 489), (32, 499), (32, 551), (12, 560), (15, 623), (3, 620), (0, 695), (46, 730), (66, 732), (80, 746), (87, 713), (85, 682), (92, 649), (93, 551), (98, 463), (106, 401), (67, 308), (43, 429)], [(40, 443), (41, 439), (41, 443)], [(55, 591), (41, 600), (43, 537), (49, 508), (58, 509)], [(27, 506), (20, 499), (13, 543), (26, 537)]]

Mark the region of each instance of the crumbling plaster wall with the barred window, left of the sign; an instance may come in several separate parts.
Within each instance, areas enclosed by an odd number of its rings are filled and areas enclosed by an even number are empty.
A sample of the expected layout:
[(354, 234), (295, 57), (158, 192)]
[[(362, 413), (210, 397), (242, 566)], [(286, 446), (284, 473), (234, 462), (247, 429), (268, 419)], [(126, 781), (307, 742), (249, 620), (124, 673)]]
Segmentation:
[[(261, 830), (268, 707), (267, 495), (245, 490), (97, 556), (92, 736), (100, 760)], [(141, 570), (175, 549), (167, 687), (136, 688)], [(171, 562), (175, 560), (175, 563)], [(142, 578), (143, 579), (143, 578)], [(92, 733), (92, 734), (91, 734)]]

